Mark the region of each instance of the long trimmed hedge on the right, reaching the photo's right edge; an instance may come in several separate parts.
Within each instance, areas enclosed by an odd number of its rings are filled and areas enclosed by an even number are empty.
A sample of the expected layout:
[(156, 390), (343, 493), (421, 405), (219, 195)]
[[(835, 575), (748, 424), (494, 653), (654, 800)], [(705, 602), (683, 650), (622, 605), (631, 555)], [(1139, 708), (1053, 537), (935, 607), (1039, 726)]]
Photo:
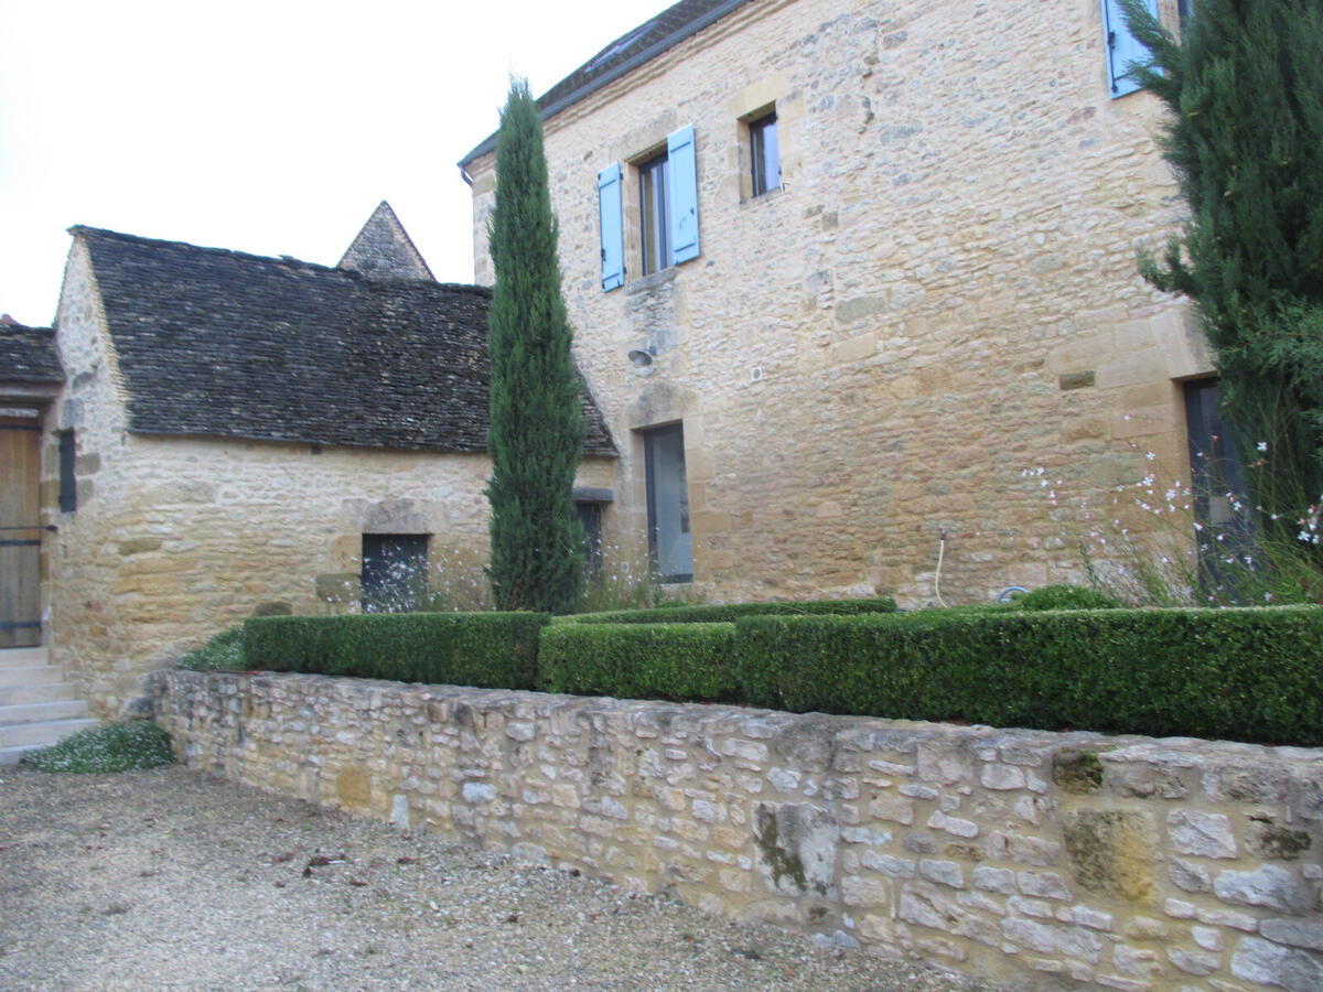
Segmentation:
[(757, 616), (745, 701), (804, 713), (1323, 745), (1323, 610)]

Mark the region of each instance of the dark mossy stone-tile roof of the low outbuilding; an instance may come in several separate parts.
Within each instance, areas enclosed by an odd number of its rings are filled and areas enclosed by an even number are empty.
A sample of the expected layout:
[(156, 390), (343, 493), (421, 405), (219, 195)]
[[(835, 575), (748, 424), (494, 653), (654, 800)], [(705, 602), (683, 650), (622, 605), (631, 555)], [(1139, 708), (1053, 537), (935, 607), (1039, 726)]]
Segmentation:
[[(130, 430), (486, 451), (491, 291), (73, 227)], [(585, 454), (615, 455), (585, 393)]]

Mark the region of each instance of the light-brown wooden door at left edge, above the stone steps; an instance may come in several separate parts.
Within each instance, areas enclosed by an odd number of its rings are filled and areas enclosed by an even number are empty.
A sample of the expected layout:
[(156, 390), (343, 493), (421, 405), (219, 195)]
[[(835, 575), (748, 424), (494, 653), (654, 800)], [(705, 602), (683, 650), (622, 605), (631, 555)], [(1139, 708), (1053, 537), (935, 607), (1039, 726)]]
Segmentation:
[(0, 413), (0, 648), (41, 643), (41, 418)]

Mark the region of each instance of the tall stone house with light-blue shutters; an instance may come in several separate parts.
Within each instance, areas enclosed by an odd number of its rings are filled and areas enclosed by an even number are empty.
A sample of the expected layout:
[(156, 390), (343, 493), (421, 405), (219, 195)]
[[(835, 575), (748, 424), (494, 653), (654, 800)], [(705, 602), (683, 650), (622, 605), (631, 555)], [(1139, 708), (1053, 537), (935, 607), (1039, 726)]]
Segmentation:
[(1080, 500), (1217, 433), (1138, 54), (1114, 0), (683, 0), (544, 94), (615, 536), (724, 599), (1077, 578)]

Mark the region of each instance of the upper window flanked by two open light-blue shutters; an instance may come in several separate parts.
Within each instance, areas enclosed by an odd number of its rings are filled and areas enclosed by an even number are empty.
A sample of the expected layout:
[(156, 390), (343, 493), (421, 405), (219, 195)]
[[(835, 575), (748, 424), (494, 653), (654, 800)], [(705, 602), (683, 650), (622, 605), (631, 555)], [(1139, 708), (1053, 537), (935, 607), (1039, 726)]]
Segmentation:
[[(643, 275), (699, 257), (699, 173), (693, 126), (669, 135), (665, 151), (634, 165), (639, 184), (638, 250)], [(602, 291), (624, 284), (624, 217), (619, 163), (597, 173)], [(632, 237), (632, 235), (631, 235)]]

